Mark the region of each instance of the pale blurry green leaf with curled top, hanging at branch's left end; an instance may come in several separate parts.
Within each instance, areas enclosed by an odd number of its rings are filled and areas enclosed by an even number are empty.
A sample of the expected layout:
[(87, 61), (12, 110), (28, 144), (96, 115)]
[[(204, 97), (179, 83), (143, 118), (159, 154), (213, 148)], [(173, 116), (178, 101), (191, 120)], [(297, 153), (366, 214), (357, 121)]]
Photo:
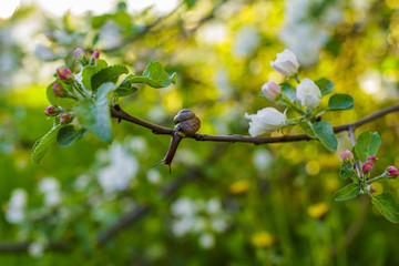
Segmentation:
[(104, 142), (110, 142), (112, 139), (108, 94), (115, 89), (114, 83), (104, 83), (99, 88), (94, 102), (83, 100), (74, 108), (79, 123)]

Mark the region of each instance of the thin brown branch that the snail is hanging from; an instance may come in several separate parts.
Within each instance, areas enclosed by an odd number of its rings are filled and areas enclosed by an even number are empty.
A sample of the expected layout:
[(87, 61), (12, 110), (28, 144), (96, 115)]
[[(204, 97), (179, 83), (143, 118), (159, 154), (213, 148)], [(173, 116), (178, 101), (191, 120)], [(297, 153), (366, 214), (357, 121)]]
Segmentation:
[[(342, 124), (334, 126), (334, 133), (339, 133), (342, 131), (349, 131), (349, 129), (356, 129), (360, 125), (369, 123), (376, 119), (379, 119), (388, 113), (398, 112), (399, 104), (392, 105), (390, 108), (377, 111), (361, 120), (358, 120), (354, 123)], [(144, 120), (140, 120), (134, 117), (126, 112), (124, 112), (119, 105), (115, 105), (111, 109), (111, 116), (114, 119), (121, 119), (134, 124), (144, 126), (146, 129), (152, 130), (155, 134), (165, 134), (171, 135), (173, 133), (173, 129), (163, 127), (156, 124), (152, 124)], [(195, 134), (194, 136), (187, 136), (191, 139), (195, 139), (196, 141), (212, 141), (212, 142), (246, 142), (254, 144), (267, 144), (267, 143), (283, 143), (283, 142), (297, 142), (297, 141), (310, 141), (314, 140), (306, 134), (297, 134), (297, 135), (282, 135), (282, 136), (272, 136), (272, 137), (257, 137), (257, 136), (244, 136), (244, 135), (207, 135), (207, 134)]]

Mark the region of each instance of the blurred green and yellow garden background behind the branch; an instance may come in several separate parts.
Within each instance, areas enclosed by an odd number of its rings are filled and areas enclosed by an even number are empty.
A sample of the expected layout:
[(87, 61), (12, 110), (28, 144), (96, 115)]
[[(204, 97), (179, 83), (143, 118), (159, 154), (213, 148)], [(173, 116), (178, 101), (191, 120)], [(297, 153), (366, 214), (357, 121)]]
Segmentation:
[[(45, 88), (72, 51), (100, 50), (142, 73), (151, 61), (176, 85), (141, 86), (129, 113), (172, 127), (190, 108), (200, 133), (248, 135), (244, 113), (270, 105), (263, 83), (285, 48), (300, 78), (334, 81), (355, 109), (339, 125), (399, 99), (397, 0), (131, 0), (0, 3), (0, 265), (398, 265), (399, 227), (359, 197), (334, 202), (347, 133), (329, 153), (316, 141), (255, 146), (185, 140), (172, 165), (153, 168), (168, 136), (113, 121), (108, 145), (92, 134), (30, 149), (52, 126)], [(327, 102), (323, 101), (323, 105)], [(280, 110), (283, 111), (283, 110)], [(288, 113), (289, 115), (289, 113)], [(376, 173), (399, 165), (398, 114), (377, 131)], [(293, 129), (286, 134), (299, 133)], [(278, 135), (280, 133), (273, 133)], [(398, 182), (377, 190), (399, 195)]]

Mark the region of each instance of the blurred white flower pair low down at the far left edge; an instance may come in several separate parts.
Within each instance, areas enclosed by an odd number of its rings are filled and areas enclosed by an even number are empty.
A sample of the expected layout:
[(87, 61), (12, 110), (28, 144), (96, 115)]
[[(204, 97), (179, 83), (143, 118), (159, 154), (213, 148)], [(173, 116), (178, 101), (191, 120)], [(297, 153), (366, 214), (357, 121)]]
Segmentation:
[(6, 219), (10, 224), (19, 224), (25, 218), (25, 206), (28, 202), (28, 194), (23, 188), (12, 191), (11, 198), (6, 205)]

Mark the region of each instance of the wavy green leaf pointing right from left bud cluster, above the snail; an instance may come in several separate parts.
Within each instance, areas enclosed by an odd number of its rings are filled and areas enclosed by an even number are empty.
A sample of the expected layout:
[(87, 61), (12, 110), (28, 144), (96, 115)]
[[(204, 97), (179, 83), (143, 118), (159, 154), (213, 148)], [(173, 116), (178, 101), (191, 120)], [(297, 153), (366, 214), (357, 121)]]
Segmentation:
[(129, 75), (132, 83), (144, 83), (152, 88), (165, 88), (176, 83), (176, 73), (168, 75), (158, 62), (151, 62), (144, 70), (143, 75)]

